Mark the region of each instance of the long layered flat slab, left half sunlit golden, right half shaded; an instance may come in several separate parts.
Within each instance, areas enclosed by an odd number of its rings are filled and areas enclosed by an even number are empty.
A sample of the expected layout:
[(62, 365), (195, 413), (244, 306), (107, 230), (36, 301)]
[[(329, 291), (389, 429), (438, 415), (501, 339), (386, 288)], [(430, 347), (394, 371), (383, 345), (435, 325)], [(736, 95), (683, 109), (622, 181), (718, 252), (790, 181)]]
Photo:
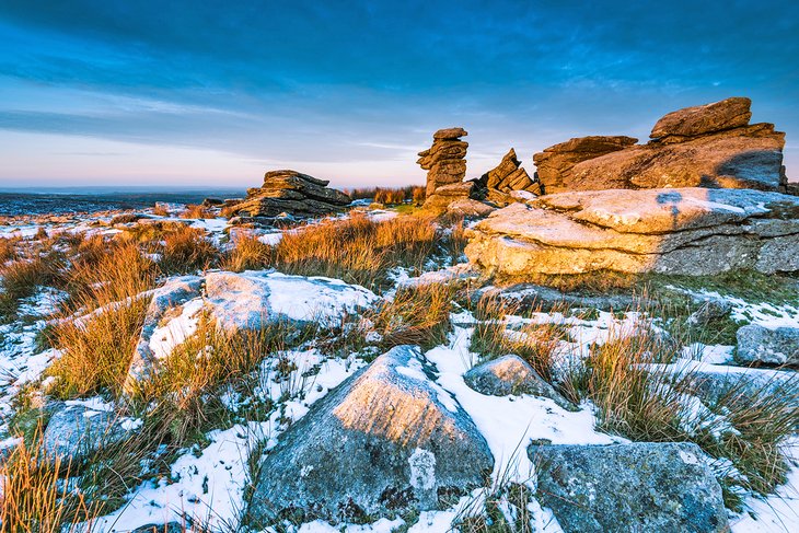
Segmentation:
[(711, 275), (799, 270), (799, 198), (663, 188), (548, 195), (491, 213), (466, 255), (507, 277), (594, 270)]

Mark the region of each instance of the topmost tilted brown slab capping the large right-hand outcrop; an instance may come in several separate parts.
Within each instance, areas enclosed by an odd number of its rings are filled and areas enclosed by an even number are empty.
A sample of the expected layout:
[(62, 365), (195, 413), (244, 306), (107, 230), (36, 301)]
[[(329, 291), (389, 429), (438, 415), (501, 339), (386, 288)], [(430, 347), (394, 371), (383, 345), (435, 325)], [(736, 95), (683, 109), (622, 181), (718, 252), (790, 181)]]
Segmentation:
[[(661, 142), (668, 138), (698, 137), (726, 129), (746, 126), (752, 118), (752, 101), (732, 97), (707, 105), (685, 107), (667, 115), (657, 121), (650, 138)], [(671, 140), (674, 142), (674, 140)]]

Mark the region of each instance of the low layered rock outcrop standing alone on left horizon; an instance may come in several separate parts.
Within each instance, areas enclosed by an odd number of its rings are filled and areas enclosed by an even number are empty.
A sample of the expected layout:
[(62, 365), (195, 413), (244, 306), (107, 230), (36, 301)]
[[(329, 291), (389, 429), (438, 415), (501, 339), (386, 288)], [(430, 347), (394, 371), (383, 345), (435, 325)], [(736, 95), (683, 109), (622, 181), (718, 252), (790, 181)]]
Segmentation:
[(267, 172), (260, 187), (247, 189), (247, 197), (232, 206), (236, 215), (277, 217), (289, 213), (315, 217), (337, 211), (348, 205), (349, 196), (327, 187), (326, 179), (317, 179), (297, 171)]

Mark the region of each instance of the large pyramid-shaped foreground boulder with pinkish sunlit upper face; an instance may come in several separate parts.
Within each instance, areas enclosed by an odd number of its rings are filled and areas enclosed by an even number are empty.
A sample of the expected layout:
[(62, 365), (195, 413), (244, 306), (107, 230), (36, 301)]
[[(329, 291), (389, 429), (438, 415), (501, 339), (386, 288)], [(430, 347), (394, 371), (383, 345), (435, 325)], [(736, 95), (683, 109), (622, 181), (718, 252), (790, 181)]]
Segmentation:
[(468, 415), (418, 348), (380, 356), (311, 407), (260, 468), (250, 511), (354, 521), (443, 508), (494, 467)]

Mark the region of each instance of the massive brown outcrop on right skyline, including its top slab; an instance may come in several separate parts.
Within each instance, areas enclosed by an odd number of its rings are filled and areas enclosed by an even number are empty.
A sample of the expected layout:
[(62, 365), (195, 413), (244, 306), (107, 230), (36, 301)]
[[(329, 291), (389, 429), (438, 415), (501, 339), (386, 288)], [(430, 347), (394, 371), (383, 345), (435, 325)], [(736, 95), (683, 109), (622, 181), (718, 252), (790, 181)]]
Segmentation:
[(785, 134), (749, 124), (749, 99), (733, 97), (663, 116), (651, 141), (583, 137), (533, 157), (546, 194), (566, 190), (722, 187), (787, 190)]

